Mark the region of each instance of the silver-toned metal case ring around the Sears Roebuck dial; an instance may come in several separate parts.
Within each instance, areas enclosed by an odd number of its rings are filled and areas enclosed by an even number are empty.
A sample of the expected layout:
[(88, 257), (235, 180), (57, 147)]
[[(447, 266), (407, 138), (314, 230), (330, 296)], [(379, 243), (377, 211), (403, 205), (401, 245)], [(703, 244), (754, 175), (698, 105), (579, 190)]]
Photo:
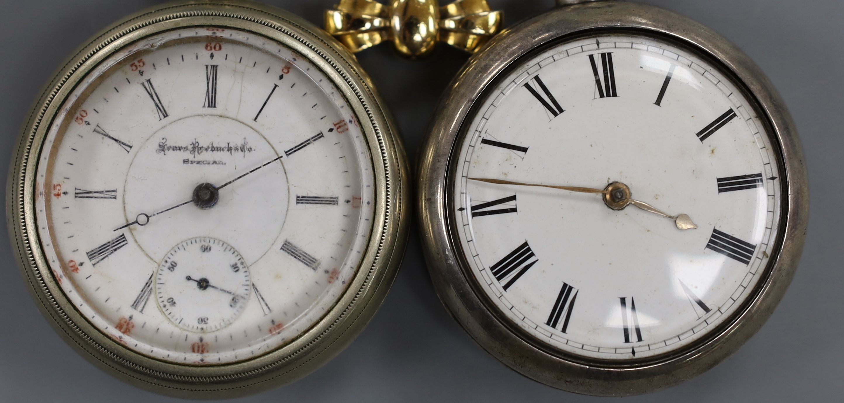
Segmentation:
[[(343, 93), (365, 134), (375, 172), (376, 211), (365, 257), (349, 287), (311, 329), (261, 357), (215, 366), (165, 363), (129, 350), (91, 325), (58, 287), (35, 230), (36, 163), (68, 94), (100, 62), (136, 40), (192, 26), (262, 35), (305, 57)], [(408, 165), (392, 116), (354, 56), (293, 14), (249, 1), (166, 3), (95, 35), (68, 58), (24, 122), (7, 189), (10, 239), (36, 304), (82, 356), (140, 388), (192, 399), (223, 399), (287, 384), (311, 373), (354, 340), (387, 295), (408, 235)], [(50, 365), (50, 363), (44, 363)]]

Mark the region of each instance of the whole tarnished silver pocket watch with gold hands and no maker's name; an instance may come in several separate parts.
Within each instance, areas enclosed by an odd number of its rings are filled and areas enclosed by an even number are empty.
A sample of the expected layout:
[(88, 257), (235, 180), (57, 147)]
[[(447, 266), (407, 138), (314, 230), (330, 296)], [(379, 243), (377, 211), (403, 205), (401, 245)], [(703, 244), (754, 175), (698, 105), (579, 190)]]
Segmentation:
[(808, 190), (782, 99), (721, 36), (639, 3), (559, 0), (469, 60), (420, 153), (443, 304), (544, 384), (677, 384), (766, 321)]

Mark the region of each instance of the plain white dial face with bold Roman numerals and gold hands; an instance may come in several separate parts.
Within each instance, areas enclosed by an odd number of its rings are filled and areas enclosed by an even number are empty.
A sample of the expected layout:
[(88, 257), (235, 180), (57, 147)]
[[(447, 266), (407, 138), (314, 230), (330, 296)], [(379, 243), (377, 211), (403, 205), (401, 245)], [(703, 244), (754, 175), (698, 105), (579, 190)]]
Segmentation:
[(449, 207), (500, 317), (627, 360), (690, 346), (753, 296), (777, 250), (781, 158), (721, 67), (607, 34), (503, 76), (467, 121)]

